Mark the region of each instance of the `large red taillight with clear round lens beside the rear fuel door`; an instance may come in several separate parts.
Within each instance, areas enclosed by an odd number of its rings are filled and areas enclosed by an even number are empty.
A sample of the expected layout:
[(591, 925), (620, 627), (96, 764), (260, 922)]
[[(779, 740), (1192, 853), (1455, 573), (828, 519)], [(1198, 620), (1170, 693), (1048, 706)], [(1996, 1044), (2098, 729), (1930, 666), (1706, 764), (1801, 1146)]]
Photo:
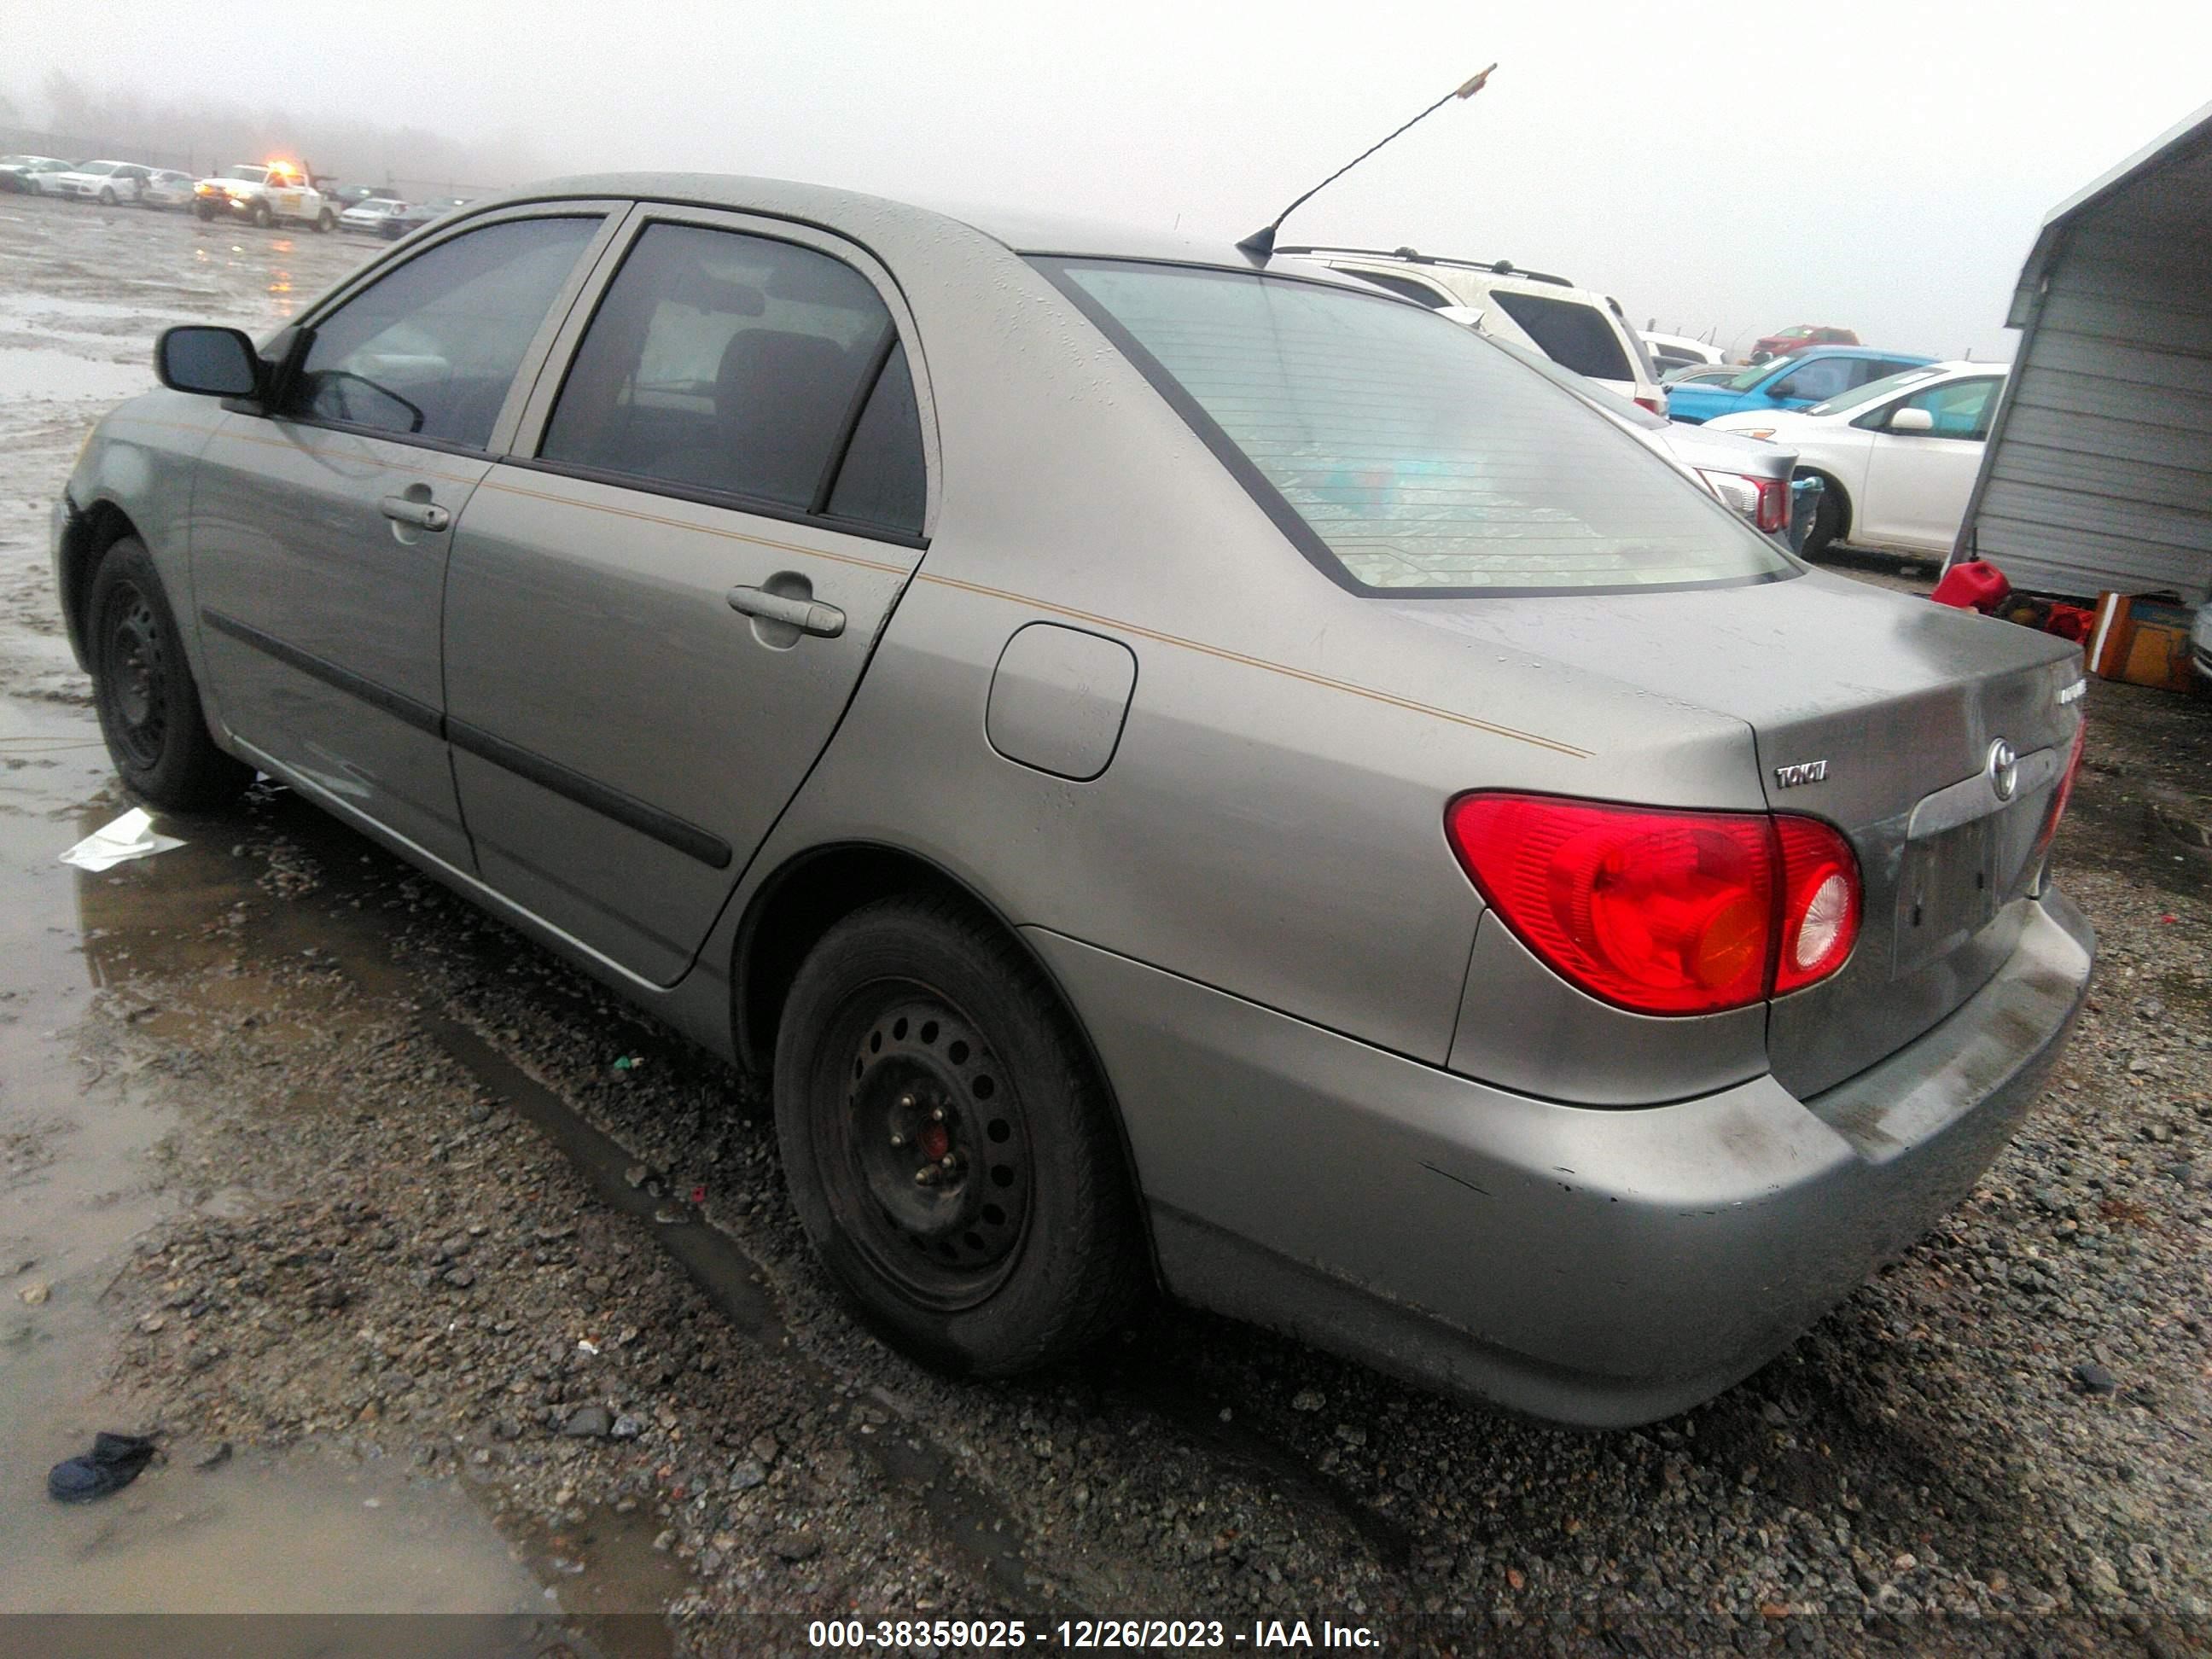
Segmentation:
[(1796, 991), (1858, 940), (1858, 860), (1814, 818), (1462, 794), (1444, 834), (1528, 949), (1637, 1013)]

